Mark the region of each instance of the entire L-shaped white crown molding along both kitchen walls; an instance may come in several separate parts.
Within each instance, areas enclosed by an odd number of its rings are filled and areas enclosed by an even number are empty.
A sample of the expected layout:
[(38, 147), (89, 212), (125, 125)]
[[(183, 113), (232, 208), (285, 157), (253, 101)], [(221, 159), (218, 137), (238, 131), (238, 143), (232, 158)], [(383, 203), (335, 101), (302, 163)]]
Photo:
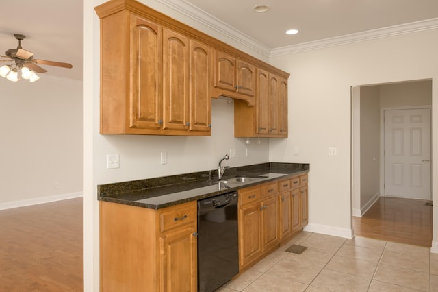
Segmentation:
[(365, 40), (374, 40), (377, 38), (388, 38), (390, 36), (397, 36), (400, 34), (409, 34), (411, 32), (421, 32), (429, 29), (438, 29), (438, 18), (426, 19), (424, 21), (415, 21), (412, 23), (404, 23), (402, 25), (394, 25), (390, 27), (383, 27), (379, 29), (372, 29), (365, 32), (358, 32), (355, 34), (346, 34), (344, 36), (336, 36), (333, 38), (324, 38), (322, 40), (315, 40), (311, 42), (303, 42), (297, 45), (290, 45), (285, 47), (278, 47), (271, 49), (261, 42), (251, 38), (250, 36), (240, 32), (231, 27), (227, 23), (220, 21), (213, 15), (197, 8), (192, 3), (185, 0), (157, 0), (173, 10), (176, 10), (185, 16), (194, 19), (198, 23), (205, 25), (216, 32), (240, 42), (245, 47), (253, 49), (263, 56), (275, 57), (287, 55), (289, 53), (298, 53), (300, 51), (310, 51), (313, 49), (322, 49), (325, 47), (334, 47), (337, 45), (345, 45), (352, 42), (363, 42)]

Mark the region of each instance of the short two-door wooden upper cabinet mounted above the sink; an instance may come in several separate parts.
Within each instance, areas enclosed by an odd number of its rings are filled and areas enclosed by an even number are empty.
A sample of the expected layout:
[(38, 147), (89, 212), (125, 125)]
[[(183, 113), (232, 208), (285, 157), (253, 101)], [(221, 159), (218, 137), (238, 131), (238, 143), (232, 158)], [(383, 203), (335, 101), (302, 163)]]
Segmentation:
[(255, 66), (215, 50), (214, 93), (254, 103)]

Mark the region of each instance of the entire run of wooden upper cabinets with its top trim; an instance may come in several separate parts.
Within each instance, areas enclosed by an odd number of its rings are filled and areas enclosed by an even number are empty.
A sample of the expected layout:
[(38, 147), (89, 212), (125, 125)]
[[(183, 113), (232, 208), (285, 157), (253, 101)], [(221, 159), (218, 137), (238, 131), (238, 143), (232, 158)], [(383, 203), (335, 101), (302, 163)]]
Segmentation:
[(287, 137), (288, 73), (136, 0), (94, 9), (101, 134), (210, 136), (211, 97), (223, 95), (236, 137)]

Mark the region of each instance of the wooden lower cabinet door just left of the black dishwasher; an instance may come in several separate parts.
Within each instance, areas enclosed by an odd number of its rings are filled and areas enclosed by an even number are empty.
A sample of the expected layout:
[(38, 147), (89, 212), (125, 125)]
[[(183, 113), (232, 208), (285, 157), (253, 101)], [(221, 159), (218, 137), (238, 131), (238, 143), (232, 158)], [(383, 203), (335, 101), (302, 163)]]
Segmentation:
[(196, 292), (196, 228), (177, 228), (160, 237), (160, 291)]

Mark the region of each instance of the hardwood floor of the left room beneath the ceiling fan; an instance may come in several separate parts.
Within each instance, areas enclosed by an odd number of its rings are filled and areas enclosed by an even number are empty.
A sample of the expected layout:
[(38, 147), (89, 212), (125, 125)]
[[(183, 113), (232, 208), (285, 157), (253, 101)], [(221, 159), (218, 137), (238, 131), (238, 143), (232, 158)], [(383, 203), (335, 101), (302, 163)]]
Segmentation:
[(0, 291), (83, 291), (83, 199), (0, 211)]

